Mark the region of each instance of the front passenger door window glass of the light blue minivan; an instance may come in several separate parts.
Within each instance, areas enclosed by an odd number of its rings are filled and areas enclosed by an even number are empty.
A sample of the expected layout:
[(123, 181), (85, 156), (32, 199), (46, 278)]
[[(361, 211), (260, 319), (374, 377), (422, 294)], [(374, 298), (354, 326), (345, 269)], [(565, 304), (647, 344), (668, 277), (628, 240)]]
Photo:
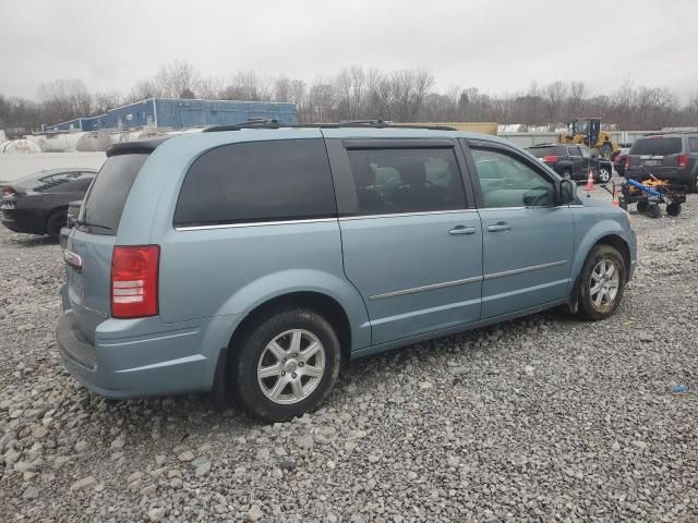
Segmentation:
[(547, 207), (554, 204), (552, 181), (514, 155), (472, 149), (484, 206)]

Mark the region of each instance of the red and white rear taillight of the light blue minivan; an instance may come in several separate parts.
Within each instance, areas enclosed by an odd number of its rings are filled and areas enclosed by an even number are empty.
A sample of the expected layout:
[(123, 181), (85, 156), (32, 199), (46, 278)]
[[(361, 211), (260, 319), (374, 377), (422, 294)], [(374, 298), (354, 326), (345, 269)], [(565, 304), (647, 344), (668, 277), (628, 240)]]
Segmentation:
[(111, 256), (111, 316), (156, 316), (159, 245), (116, 246)]

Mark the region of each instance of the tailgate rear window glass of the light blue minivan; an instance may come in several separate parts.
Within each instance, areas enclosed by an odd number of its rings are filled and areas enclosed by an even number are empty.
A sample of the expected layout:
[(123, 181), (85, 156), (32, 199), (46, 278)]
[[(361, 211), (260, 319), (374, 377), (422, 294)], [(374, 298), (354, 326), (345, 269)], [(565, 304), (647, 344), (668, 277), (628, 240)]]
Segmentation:
[(141, 154), (107, 158), (85, 196), (80, 215), (80, 221), (92, 226), (80, 226), (81, 229), (95, 234), (117, 233), (131, 185), (147, 157)]

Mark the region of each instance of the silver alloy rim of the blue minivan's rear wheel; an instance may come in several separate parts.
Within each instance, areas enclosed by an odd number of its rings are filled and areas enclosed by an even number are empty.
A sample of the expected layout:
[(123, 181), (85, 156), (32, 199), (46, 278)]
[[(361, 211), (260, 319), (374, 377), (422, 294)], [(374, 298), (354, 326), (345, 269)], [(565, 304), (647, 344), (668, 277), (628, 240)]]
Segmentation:
[(291, 329), (269, 341), (257, 362), (257, 382), (264, 396), (279, 404), (306, 399), (325, 373), (325, 348), (309, 330)]

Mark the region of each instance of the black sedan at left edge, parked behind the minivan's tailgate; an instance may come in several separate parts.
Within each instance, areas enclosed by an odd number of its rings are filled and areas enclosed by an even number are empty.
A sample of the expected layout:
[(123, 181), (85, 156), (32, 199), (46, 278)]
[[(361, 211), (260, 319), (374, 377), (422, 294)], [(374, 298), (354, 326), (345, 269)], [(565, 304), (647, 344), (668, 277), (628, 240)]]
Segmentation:
[(55, 169), (0, 186), (2, 224), (14, 232), (48, 234), (58, 240), (68, 204), (82, 199), (94, 169)]

